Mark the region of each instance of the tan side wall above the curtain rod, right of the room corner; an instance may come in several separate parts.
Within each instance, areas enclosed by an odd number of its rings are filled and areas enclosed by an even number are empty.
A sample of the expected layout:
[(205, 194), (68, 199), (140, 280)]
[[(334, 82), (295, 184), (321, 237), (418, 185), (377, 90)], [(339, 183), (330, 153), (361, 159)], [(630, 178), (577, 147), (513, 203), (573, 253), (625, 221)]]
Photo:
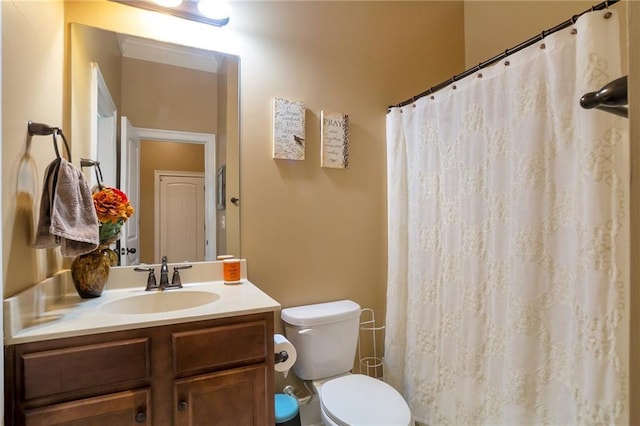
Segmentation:
[[(471, 68), (543, 30), (570, 19), (597, 0), (571, 1), (477, 1), (464, 2), (465, 63)], [(612, 6), (620, 14), (620, 42), (626, 46), (626, 1)], [(623, 69), (626, 69), (626, 51)]]

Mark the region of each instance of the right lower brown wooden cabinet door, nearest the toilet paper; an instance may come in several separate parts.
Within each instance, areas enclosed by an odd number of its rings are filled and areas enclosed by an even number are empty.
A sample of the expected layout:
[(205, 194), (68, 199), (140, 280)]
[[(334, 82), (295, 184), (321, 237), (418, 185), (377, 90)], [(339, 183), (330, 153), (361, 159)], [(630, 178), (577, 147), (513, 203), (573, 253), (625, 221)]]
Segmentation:
[(269, 424), (264, 365), (176, 380), (176, 426), (265, 426)]

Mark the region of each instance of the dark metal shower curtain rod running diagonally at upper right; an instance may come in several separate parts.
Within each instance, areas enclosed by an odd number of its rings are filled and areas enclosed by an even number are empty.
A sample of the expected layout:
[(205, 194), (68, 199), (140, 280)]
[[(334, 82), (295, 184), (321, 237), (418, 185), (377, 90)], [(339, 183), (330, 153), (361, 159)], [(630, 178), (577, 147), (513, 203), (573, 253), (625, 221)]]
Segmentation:
[(486, 68), (489, 65), (492, 65), (492, 64), (498, 62), (499, 60), (506, 58), (507, 56), (513, 55), (514, 53), (519, 52), (522, 49), (524, 49), (526, 47), (529, 47), (529, 46), (531, 46), (531, 45), (543, 40), (546, 36), (548, 36), (550, 34), (553, 34), (555, 32), (558, 32), (560, 30), (563, 30), (563, 29), (575, 24), (576, 21), (578, 20), (578, 18), (580, 16), (584, 15), (585, 13), (593, 12), (595, 10), (607, 9), (612, 4), (618, 3), (618, 1), (620, 1), (620, 0), (606, 0), (606, 1), (603, 1), (602, 3), (599, 3), (599, 4), (595, 5), (595, 6), (591, 6), (590, 9), (587, 9), (587, 10), (585, 10), (585, 11), (583, 11), (583, 12), (577, 14), (577, 15), (573, 15), (571, 17), (571, 19), (567, 19), (566, 21), (556, 25), (553, 28), (549, 28), (548, 30), (544, 30), (544, 31), (542, 31), (542, 33), (536, 35), (535, 37), (531, 37), (529, 40), (523, 41), (522, 43), (520, 43), (520, 44), (518, 44), (518, 45), (516, 45), (516, 46), (514, 46), (514, 47), (512, 47), (510, 49), (507, 49), (504, 52), (500, 53), (499, 55), (494, 56), (491, 59), (488, 59), (488, 60), (486, 60), (484, 62), (480, 62), (475, 67), (469, 68), (468, 70), (463, 71), (460, 74), (454, 75), (449, 80), (443, 81), (442, 83), (437, 84), (437, 85), (433, 86), (432, 88), (430, 88), (428, 90), (425, 90), (424, 92), (412, 97), (411, 99), (407, 99), (406, 101), (400, 102), (397, 105), (390, 105), (388, 107), (388, 109), (387, 109), (387, 113), (389, 111), (391, 111), (391, 108), (401, 108), (403, 106), (412, 104), (412, 103), (414, 103), (415, 101), (417, 101), (418, 99), (420, 99), (422, 97), (425, 97), (427, 95), (431, 95), (431, 94), (437, 92), (438, 90), (442, 90), (445, 87), (449, 86), (450, 84), (453, 84), (456, 81), (461, 80), (461, 79), (473, 74), (474, 72), (477, 72), (477, 71), (479, 71), (479, 70), (481, 70), (483, 68)]

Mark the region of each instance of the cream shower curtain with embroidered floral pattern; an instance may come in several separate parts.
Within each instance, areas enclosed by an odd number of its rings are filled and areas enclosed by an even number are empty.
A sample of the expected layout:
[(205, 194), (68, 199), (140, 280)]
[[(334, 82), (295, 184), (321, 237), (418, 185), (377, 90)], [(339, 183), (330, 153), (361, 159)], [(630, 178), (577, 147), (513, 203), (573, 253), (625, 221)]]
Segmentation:
[(618, 17), (387, 116), (385, 380), (439, 425), (628, 422), (627, 122)]

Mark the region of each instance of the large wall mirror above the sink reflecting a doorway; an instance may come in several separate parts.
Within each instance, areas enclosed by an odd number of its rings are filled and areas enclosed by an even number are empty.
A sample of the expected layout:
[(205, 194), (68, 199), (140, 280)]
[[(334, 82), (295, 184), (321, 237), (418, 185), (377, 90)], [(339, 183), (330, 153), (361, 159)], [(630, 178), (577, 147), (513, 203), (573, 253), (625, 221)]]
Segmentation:
[(74, 23), (70, 62), (74, 160), (136, 209), (120, 265), (240, 257), (239, 58)]

